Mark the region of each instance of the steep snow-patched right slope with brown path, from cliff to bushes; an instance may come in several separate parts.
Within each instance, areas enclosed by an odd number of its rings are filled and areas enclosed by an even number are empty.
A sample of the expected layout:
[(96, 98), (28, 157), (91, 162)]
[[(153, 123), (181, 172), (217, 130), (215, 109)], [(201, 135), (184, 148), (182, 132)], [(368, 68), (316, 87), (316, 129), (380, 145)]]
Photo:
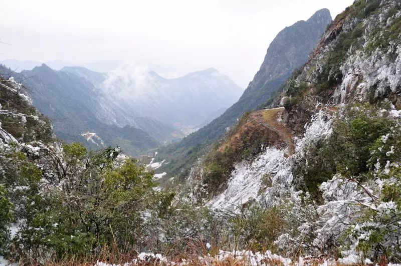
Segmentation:
[[(394, 0), (355, 1), (338, 15), (270, 109), (244, 116), (192, 168), (190, 200), (281, 210), (287, 227), (271, 244), (287, 256), (399, 261), (400, 26)], [(267, 138), (249, 138), (261, 130)]]

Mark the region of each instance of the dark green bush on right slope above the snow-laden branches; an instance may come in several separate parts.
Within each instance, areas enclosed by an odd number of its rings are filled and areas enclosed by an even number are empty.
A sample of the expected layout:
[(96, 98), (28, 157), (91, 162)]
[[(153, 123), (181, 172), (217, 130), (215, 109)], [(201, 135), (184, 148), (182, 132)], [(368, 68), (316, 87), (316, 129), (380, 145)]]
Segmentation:
[(376, 148), (381, 137), (393, 127), (394, 121), (382, 116), (378, 107), (369, 104), (346, 107), (344, 115), (334, 119), (331, 136), (310, 145), (303, 162), (297, 164), (295, 173), (302, 177), (304, 184), (300, 188), (305, 186), (307, 191), (318, 197), (318, 186), (336, 173), (365, 179), (377, 161), (385, 165), (388, 160), (386, 153)]

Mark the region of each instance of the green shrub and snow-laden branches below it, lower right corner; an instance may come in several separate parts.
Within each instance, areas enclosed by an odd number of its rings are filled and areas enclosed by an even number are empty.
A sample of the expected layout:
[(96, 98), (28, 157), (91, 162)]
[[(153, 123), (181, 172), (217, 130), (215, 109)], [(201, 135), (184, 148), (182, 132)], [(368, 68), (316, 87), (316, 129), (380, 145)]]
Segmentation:
[[(309, 200), (300, 194), (290, 199), (293, 208), (286, 220), (297, 220), (298, 228), (280, 235), (277, 245), (283, 252), (339, 252), (359, 262), (363, 258), (377, 262), (383, 257), (401, 259), (398, 113), (380, 105), (348, 106), (332, 127), (326, 141), (307, 148), (306, 163), (299, 172), (306, 184), (323, 181), (318, 186), (319, 197)], [(317, 159), (329, 163), (317, 165)], [(327, 180), (319, 179), (319, 169)]]

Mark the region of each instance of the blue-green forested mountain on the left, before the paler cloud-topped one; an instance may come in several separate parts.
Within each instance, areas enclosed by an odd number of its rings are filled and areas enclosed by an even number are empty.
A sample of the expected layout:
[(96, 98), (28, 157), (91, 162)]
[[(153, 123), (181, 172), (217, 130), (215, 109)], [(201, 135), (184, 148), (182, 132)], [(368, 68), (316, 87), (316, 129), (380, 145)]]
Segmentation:
[(154, 136), (160, 137), (158, 139), (145, 131), (148, 128), (143, 119), (138, 120), (141, 128), (105, 122), (99, 114), (109, 110), (119, 112), (118, 107), (113, 103), (99, 105), (101, 92), (92, 83), (74, 74), (55, 71), (46, 65), (21, 74), (7, 69), (2, 72), (7, 71), (8, 76), (22, 75), (23, 83), (31, 90), (34, 105), (51, 118), (56, 135), (66, 142), (82, 141), (92, 149), (120, 145), (127, 154), (137, 155), (158, 147), (160, 142), (177, 138), (176, 135), (169, 137), (176, 132), (175, 129), (155, 120), (149, 119), (147, 123), (150, 130), (156, 128), (157, 135)]

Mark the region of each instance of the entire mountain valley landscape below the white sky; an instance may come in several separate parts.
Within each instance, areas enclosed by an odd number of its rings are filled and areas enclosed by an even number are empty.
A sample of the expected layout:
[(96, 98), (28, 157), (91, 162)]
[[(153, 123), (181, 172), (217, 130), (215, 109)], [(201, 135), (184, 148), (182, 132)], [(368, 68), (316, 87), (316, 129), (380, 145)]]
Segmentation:
[(320, 9), (245, 91), (0, 66), (0, 264), (398, 265), (400, 26), (397, 0)]

